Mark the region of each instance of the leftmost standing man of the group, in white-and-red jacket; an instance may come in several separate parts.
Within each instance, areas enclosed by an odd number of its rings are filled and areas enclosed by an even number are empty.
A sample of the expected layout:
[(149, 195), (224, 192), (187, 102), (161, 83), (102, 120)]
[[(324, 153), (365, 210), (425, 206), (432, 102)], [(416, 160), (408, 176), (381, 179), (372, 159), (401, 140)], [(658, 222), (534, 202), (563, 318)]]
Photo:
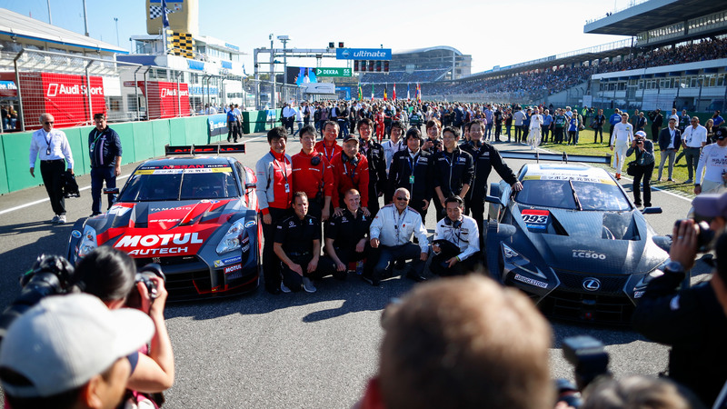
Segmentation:
[(255, 165), (255, 191), (263, 221), (265, 290), (271, 294), (280, 294), (281, 284), (280, 259), (273, 250), (275, 226), (288, 213), (293, 198), (293, 166), (290, 156), (285, 155), (287, 141), (288, 133), (284, 127), (278, 126), (268, 131), (270, 152)]

